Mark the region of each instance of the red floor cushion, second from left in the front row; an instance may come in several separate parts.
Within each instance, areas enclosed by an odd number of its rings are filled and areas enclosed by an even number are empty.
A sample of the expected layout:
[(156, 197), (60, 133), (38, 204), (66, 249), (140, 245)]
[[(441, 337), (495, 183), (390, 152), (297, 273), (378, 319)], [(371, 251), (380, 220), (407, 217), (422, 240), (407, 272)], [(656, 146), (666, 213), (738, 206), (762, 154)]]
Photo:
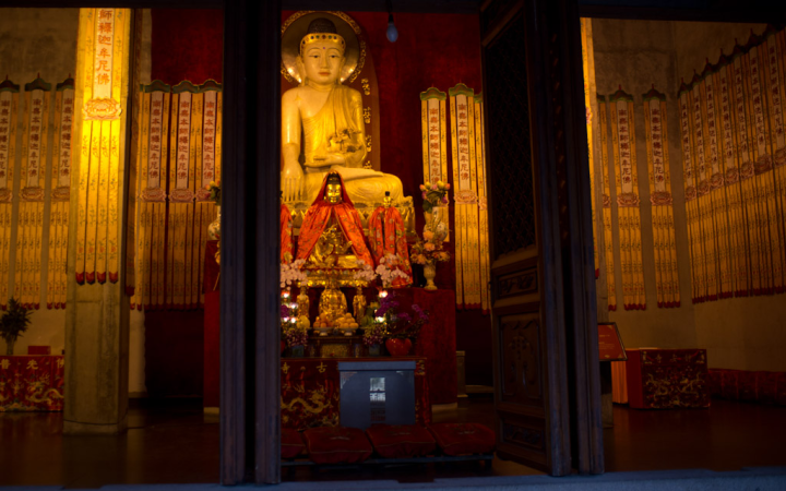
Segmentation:
[(311, 428), (303, 431), (303, 439), (315, 464), (361, 463), (373, 452), (366, 433), (357, 428)]

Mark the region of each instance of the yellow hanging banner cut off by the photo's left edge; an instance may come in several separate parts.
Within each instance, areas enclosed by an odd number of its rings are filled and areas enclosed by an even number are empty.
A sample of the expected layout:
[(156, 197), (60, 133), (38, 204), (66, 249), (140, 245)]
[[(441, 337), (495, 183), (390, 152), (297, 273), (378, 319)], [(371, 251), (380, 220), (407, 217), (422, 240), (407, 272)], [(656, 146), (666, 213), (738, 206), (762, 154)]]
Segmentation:
[(0, 83), (0, 309), (5, 310), (11, 283), (11, 212), (16, 161), (16, 122), (20, 86)]

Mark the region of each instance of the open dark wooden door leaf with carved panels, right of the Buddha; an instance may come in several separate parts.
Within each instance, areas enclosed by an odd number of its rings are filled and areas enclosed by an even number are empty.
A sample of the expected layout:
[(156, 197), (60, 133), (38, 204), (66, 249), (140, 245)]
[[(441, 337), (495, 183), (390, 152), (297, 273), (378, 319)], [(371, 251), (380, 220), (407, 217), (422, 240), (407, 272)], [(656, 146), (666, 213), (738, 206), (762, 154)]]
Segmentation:
[[(487, 12), (495, 15), (493, 9)], [(539, 195), (535, 181), (538, 154), (531, 130), (531, 121), (544, 116), (543, 106), (539, 112), (532, 109), (539, 96), (531, 95), (543, 82), (531, 85), (528, 80), (525, 15), (520, 13), (498, 32), (486, 36), (483, 50), (498, 452), (562, 475), (570, 470), (568, 431), (562, 428), (567, 385), (553, 367), (563, 347), (555, 335), (559, 323), (543, 308), (551, 297), (544, 291), (553, 291), (556, 279), (543, 275), (538, 213), (544, 208), (536, 203), (546, 196)]]

